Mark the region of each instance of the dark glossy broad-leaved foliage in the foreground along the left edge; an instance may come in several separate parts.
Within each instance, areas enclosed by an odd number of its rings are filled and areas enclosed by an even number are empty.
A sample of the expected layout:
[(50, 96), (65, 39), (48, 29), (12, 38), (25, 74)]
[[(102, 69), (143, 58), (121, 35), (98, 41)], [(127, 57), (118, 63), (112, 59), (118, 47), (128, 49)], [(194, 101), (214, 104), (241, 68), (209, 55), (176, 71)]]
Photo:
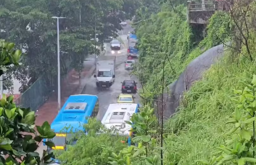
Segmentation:
[[(21, 50), (15, 50), (14, 46), (14, 43), (0, 40), (0, 75), (3, 75), (7, 68), (21, 65), (23, 54)], [(36, 152), (38, 145), (44, 138), (53, 138), (55, 133), (48, 122), (36, 126), (37, 133), (34, 130), (35, 119), (35, 112), (30, 108), (16, 107), (13, 95), (7, 98), (3, 95), (0, 100), (0, 165), (40, 163), (39, 153)], [(45, 145), (54, 146), (51, 142), (45, 142)], [(44, 151), (42, 156), (43, 162), (47, 163), (52, 153)]]

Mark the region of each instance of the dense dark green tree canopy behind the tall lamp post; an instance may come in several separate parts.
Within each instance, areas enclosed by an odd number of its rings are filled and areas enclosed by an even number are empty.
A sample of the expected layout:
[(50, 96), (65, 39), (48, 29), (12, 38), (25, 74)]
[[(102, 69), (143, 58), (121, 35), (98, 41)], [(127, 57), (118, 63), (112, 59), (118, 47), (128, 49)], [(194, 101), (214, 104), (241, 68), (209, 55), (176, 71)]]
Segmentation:
[[(120, 22), (131, 18), (137, 1), (127, 0), (3, 0), (0, 4), (0, 38), (16, 44), (27, 55), (23, 67), (14, 76), (23, 86), (27, 77), (33, 83), (42, 73), (57, 73), (57, 20), (60, 19), (61, 72), (68, 68), (78, 72), (86, 55), (99, 53), (95, 45), (102, 46), (109, 37), (116, 37)], [(137, 5), (138, 6), (138, 5)], [(99, 41), (95, 43), (96, 34)], [(8, 83), (5, 83), (6, 85)], [(11, 82), (9, 82), (11, 84)]]

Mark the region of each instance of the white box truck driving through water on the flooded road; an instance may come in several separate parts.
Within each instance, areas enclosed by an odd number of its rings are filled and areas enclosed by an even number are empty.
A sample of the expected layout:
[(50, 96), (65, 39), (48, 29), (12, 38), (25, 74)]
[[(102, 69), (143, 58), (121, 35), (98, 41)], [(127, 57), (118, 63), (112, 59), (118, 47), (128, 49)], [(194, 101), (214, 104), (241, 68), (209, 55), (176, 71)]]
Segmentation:
[(99, 56), (96, 60), (96, 86), (110, 87), (115, 81), (116, 56)]

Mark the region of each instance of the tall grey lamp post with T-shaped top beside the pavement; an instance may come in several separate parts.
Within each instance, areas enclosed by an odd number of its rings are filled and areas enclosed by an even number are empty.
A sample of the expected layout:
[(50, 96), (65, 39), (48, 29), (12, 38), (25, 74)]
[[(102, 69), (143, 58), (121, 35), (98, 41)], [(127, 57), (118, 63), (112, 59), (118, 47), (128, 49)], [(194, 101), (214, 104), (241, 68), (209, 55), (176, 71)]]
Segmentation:
[(61, 110), (61, 67), (60, 67), (60, 36), (59, 36), (59, 19), (66, 17), (51, 17), (57, 19), (57, 43), (58, 43), (58, 113)]

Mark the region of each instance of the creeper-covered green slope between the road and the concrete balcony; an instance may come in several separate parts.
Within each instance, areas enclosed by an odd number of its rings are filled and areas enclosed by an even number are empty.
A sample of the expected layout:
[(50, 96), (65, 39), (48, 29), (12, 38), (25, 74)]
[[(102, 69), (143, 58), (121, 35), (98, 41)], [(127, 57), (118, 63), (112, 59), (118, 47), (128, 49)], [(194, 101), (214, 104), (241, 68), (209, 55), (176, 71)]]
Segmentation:
[(187, 64), (197, 56), (230, 38), (230, 19), (224, 12), (216, 12), (211, 17), (204, 39), (200, 25), (191, 27), (186, 23), (186, 7), (183, 4), (171, 9), (170, 3), (164, 3), (161, 11), (149, 15), (149, 18), (148, 14), (141, 11), (139, 14), (143, 15), (138, 21), (140, 23), (134, 24), (140, 38), (140, 63), (137, 66), (139, 71), (134, 74), (140, 78), (143, 84), (142, 95), (148, 99), (160, 93), (166, 55), (169, 61), (164, 69), (167, 75), (164, 87), (176, 80)]

